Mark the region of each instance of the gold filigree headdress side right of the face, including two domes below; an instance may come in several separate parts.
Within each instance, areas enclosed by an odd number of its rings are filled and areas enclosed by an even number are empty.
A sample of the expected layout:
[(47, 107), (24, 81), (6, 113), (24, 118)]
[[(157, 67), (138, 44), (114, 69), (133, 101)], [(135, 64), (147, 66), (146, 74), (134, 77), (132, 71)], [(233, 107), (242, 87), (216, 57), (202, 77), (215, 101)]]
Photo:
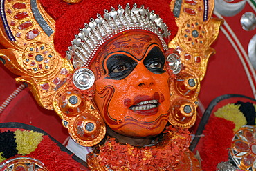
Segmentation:
[(214, 1), (185, 0), (172, 1), (179, 28), (176, 37), (170, 41), (181, 57), (183, 70), (170, 85), (170, 123), (190, 128), (196, 121), (197, 97), (200, 81), (203, 79), (210, 55), (214, 49), (210, 45), (219, 34), (221, 19), (212, 19)]

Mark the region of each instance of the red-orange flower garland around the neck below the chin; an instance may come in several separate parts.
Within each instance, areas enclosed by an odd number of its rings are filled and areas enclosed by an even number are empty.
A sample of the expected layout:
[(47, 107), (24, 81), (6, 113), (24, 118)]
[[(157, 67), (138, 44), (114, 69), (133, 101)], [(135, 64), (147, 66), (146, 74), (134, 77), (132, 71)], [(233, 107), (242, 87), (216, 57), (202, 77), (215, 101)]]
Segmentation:
[(112, 170), (172, 170), (188, 152), (190, 132), (170, 126), (165, 133), (162, 141), (151, 147), (134, 147), (109, 138), (100, 146), (97, 159)]

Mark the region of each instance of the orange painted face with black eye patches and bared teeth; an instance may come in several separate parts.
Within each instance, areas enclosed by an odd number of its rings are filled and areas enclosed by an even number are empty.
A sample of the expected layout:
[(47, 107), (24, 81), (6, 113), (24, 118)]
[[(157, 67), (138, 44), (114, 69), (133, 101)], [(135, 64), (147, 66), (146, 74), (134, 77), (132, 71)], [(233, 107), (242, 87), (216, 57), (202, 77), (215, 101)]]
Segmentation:
[(160, 134), (169, 117), (169, 75), (154, 34), (126, 33), (102, 48), (91, 65), (93, 101), (111, 130), (127, 137)]

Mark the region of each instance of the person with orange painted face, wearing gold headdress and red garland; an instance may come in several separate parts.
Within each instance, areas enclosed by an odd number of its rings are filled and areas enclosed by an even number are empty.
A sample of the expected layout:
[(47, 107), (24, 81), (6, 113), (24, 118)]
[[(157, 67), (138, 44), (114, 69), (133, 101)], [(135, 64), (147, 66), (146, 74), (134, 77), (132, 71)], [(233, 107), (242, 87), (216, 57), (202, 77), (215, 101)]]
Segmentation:
[(0, 57), (61, 117), (70, 143), (90, 147), (91, 170), (201, 170), (188, 128), (221, 25), (213, 8), (212, 0), (1, 0)]

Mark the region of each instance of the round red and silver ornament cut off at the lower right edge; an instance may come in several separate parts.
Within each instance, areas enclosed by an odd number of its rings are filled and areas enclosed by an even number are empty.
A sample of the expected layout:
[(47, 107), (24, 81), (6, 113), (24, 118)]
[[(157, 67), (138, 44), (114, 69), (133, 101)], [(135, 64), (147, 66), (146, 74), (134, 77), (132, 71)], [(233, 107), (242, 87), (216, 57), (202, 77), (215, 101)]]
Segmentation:
[(241, 170), (256, 170), (256, 127), (244, 125), (232, 139), (230, 154)]

